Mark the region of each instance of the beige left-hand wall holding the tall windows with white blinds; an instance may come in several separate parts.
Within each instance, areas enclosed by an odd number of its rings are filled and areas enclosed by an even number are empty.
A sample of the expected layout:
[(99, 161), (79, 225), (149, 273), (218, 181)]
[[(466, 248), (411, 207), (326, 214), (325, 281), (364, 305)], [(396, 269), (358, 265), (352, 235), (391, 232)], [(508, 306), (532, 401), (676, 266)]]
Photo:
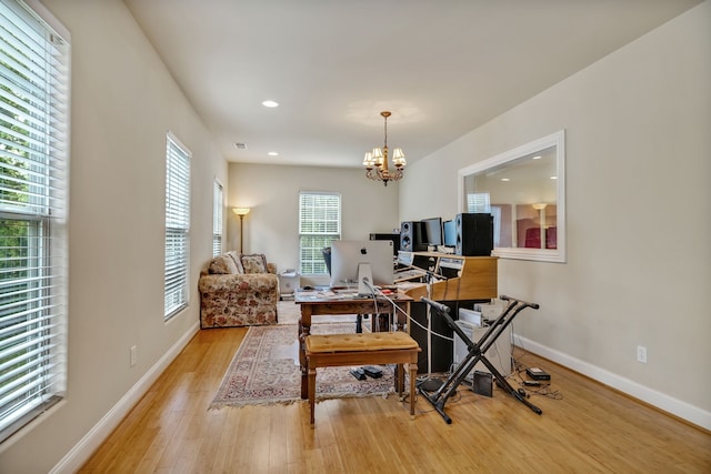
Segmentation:
[[(0, 472), (90, 454), (198, 327), (212, 182), (227, 163), (121, 1), (46, 0), (70, 30), (69, 374), (66, 400), (2, 444)], [(163, 323), (166, 132), (193, 153), (190, 306)], [(138, 363), (129, 349), (138, 346)], [(84, 437), (87, 435), (87, 437)], [(92, 437), (93, 436), (93, 437)], [(74, 452), (71, 452), (74, 450)]]

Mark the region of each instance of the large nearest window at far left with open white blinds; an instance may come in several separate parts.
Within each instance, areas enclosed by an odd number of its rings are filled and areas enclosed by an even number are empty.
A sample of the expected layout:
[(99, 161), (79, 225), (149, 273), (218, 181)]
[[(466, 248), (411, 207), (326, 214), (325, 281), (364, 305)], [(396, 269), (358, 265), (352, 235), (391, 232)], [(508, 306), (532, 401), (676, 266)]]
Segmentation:
[(66, 391), (69, 64), (57, 20), (0, 2), (0, 442)]

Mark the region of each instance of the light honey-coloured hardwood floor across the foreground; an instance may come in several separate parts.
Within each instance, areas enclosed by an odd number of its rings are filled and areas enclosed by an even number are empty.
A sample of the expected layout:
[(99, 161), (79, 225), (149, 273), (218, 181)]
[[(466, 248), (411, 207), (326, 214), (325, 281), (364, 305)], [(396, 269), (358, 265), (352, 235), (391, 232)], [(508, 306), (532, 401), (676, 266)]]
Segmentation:
[(421, 397), (323, 401), (314, 430), (306, 401), (209, 411), (246, 332), (200, 331), (80, 473), (711, 473), (711, 433), (532, 354), (540, 416), (462, 387), (451, 425)]

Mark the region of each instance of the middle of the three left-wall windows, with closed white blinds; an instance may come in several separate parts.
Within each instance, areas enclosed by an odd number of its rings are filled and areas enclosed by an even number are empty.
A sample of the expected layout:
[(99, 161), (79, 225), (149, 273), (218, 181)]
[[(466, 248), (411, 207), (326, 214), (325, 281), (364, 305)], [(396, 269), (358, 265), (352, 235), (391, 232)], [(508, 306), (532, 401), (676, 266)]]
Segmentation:
[(190, 152), (168, 133), (166, 152), (166, 307), (169, 320), (188, 305)]

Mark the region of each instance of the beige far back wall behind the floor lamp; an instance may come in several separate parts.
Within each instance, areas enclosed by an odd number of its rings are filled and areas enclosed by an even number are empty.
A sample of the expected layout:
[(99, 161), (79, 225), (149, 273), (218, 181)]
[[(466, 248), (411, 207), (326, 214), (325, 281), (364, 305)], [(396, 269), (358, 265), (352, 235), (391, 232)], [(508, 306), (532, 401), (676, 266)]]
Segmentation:
[[(299, 268), (299, 192), (341, 194), (342, 239), (368, 239), (392, 232), (398, 222), (398, 183), (385, 188), (364, 170), (230, 163), (228, 208), (248, 206), (244, 253), (264, 253), (278, 270)], [(239, 218), (228, 218), (227, 250), (239, 250)], [(302, 280), (302, 284), (326, 280)]]

